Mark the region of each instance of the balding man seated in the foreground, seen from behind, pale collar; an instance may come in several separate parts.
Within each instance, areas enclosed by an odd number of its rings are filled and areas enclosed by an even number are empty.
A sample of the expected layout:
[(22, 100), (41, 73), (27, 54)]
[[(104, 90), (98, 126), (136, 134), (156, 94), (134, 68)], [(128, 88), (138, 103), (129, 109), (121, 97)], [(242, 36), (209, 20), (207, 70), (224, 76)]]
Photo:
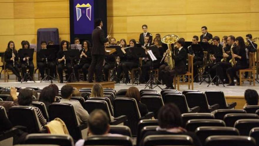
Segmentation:
[[(91, 136), (91, 135), (105, 135), (107, 137), (122, 136), (121, 134), (109, 133), (109, 130), (110, 130), (109, 118), (107, 114), (101, 109), (96, 109), (92, 111), (89, 117), (88, 126), (89, 126), (88, 136)], [(84, 141), (85, 140), (77, 141), (76, 146), (83, 146)]]

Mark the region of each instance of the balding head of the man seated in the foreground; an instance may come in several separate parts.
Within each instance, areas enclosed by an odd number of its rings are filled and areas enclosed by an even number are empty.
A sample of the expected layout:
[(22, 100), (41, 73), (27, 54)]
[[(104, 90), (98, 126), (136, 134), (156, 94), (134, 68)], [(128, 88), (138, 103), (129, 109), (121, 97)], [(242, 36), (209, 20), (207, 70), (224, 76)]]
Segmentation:
[(88, 124), (89, 131), (93, 135), (103, 135), (109, 131), (109, 118), (101, 109), (96, 109), (91, 112)]

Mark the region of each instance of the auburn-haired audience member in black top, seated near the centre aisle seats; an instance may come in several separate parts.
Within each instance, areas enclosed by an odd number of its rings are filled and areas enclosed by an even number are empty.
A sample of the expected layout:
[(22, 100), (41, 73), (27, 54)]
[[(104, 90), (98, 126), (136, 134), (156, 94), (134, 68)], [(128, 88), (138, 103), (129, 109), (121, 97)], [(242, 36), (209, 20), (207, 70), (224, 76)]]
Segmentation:
[(125, 97), (136, 99), (141, 117), (145, 116), (148, 113), (147, 106), (140, 102), (140, 91), (137, 87), (129, 87)]

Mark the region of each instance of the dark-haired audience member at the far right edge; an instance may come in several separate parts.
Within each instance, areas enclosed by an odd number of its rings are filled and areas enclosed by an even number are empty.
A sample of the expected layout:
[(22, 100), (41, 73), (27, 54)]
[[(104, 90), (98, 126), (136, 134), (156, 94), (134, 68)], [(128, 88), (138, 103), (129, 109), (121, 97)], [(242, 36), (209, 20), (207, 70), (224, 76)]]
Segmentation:
[(246, 104), (245, 106), (248, 105), (258, 105), (258, 93), (257, 91), (253, 90), (253, 89), (246, 89), (245, 90), (245, 101)]

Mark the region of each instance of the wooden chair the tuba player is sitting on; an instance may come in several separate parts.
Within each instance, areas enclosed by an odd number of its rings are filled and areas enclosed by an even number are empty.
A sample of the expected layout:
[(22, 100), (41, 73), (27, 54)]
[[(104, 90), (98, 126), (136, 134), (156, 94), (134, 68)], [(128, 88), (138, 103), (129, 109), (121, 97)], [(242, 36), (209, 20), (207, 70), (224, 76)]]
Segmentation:
[[(188, 82), (185, 82), (184, 80), (180, 82), (181, 76), (188, 76)], [(188, 71), (187, 73), (183, 75), (176, 75), (174, 77), (174, 85), (176, 87), (177, 83), (177, 90), (179, 89), (179, 85), (188, 85), (188, 89), (190, 89), (190, 85), (192, 85), (192, 90), (193, 90), (193, 55), (188, 55)]]

